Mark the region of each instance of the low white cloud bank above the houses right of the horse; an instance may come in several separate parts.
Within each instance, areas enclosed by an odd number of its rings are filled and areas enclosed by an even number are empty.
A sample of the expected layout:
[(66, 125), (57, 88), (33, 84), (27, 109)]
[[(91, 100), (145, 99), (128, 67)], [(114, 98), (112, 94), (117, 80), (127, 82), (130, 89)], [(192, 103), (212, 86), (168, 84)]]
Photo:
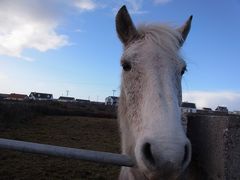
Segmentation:
[(183, 101), (194, 102), (198, 108), (227, 106), (230, 110), (240, 110), (240, 92), (188, 91), (183, 92)]

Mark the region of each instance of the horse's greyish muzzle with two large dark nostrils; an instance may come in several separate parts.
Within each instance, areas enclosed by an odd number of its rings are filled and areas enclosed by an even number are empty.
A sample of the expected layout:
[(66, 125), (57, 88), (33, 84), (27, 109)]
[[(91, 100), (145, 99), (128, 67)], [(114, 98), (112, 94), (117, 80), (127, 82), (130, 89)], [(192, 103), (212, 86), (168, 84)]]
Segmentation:
[(177, 178), (190, 163), (191, 144), (188, 139), (183, 142), (148, 139), (137, 143), (135, 153), (138, 168), (149, 179), (156, 179), (157, 176)]

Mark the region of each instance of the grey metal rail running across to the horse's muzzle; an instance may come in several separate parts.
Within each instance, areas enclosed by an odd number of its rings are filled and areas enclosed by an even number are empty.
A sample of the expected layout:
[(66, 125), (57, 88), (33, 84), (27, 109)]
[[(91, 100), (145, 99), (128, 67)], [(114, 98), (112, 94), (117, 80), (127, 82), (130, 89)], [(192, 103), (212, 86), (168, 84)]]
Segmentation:
[(34, 154), (43, 154), (70, 159), (86, 160), (118, 166), (128, 167), (134, 166), (134, 161), (127, 155), (53, 146), (47, 144), (39, 144), (3, 138), (0, 138), (0, 149), (15, 150)]

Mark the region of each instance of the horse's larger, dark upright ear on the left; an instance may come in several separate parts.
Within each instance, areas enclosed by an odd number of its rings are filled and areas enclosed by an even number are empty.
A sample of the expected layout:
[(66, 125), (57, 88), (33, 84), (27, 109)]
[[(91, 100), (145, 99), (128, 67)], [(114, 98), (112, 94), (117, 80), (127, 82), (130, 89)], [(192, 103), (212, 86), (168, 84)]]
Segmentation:
[(116, 30), (119, 39), (125, 46), (139, 36), (125, 5), (119, 9), (116, 15)]

